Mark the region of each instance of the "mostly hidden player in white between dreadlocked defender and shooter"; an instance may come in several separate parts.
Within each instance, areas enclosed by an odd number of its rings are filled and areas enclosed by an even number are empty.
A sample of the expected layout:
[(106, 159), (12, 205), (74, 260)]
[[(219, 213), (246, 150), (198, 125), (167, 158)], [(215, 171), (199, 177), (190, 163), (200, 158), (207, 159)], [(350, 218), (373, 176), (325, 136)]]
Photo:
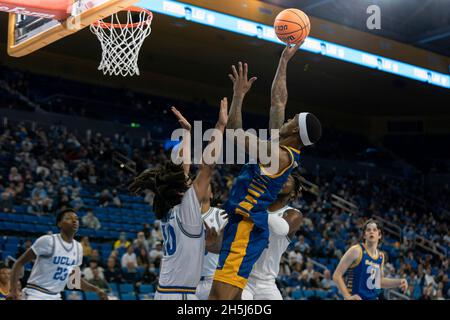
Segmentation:
[(206, 246), (205, 257), (203, 261), (200, 283), (197, 286), (195, 295), (199, 300), (208, 300), (211, 291), (214, 273), (219, 262), (219, 253), (221, 248), (220, 236), (227, 223), (227, 214), (224, 210), (211, 207), (213, 191), (209, 194), (209, 201), (202, 204), (202, 218), (206, 228)]

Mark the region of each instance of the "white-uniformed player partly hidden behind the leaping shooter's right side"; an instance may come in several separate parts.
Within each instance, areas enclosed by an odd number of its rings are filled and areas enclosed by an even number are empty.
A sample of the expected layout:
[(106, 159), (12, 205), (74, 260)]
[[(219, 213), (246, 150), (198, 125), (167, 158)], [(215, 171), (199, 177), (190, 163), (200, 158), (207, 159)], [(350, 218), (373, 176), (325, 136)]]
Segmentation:
[(276, 278), (280, 260), (302, 223), (302, 214), (287, 205), (301, 192), (299, 175), (292, 173), (277, 200), (268, 208), (269, 246), (253, 266), (247, 286), (242, 292), (242, 300), (282, 300)]

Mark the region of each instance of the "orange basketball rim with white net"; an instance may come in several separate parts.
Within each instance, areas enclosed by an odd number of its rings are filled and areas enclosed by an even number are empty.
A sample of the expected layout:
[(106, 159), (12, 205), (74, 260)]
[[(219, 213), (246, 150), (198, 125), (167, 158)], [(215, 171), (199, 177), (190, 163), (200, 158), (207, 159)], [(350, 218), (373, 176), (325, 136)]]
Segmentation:
[(102, 45), (102, 61), (98, 70), (105, 75), (139, 75), (139, 51), (152, 32), (153, 14), (144, 8), (131, 7), (124, 10), (126, 23), (120, 23), (119, 13), (110, 22), (99, 20), (91, 25), (91, 31)]

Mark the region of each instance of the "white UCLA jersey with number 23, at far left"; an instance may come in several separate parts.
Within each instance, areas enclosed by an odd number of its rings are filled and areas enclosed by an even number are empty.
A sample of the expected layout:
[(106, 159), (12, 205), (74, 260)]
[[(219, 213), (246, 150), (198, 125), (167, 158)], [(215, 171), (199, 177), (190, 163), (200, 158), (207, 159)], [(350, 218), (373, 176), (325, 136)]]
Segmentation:
[(36, 255), (26, 287), (25, 300), (59, 300), (74, 267), (81, 266), (83, 247), (73, 240), (65, 242), (60, 234), (38, 238), (31, 246)]

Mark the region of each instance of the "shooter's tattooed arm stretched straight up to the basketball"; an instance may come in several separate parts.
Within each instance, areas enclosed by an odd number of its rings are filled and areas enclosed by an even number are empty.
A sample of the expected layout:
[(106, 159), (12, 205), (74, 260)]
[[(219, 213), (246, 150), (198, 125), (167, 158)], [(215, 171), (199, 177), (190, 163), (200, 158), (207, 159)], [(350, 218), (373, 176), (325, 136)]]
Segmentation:
[(286, 72), (289, 60), (298, 51), (303, 42), (295, 46), (287, 45), (281, 54), (278, 69), (272, 82), (269, 129), (280, 129), (284, 123), (285, 109), (288, 99)]

